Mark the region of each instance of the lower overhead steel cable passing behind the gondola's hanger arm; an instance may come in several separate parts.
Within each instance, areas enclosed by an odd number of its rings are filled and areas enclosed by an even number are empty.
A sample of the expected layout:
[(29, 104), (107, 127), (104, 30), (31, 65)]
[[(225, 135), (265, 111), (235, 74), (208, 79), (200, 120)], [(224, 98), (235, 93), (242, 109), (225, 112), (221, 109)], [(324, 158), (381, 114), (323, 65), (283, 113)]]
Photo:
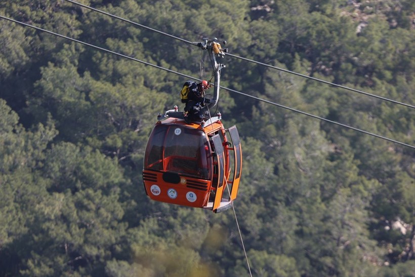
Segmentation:
[[(0, 15), (0, 18), (9, 20), (11, 22), (14, 22), (14, 23), (17, 23), (17, 24), (21, 24), (21, 25), (24, 25), (24, 26), (27, 26), (27, 27), (30, 27), (30, 28), (33, 28), (33, 29), (36, 29), (36, 30), (39, 30), (39, 31), (43, 31), (43, 32), (46, 32), (46, 33), (49, 33), (49, 34), (53, 34), (53, 35), (56, 35), (56, 36), (59, 36), (59, 37), (68, 39), (69, 41), (72, 41), (72, 42), (76, 42), (76, 43), (79, 43), (79, 44), (83, 44), (83, 45), (86, 45), (86, 46), (89, 46), (89, 47), (92, 47), (92, 48), (95, 48), (95, 49), (98, 49), (98, 50), (101, 50), (101, 51), (104, 51), (104, 52), (107, 52), (107, 53), (111, 53), (111, 54), (114, 54), (116, 56), (120, 56), (120, 57), (123, 57), (123, 58), (127, 58), (127, 59), (130, 59), (130, 60), (136, 61), (136, 62), (140, 62), (140, 63), (143, 63), (145, 65), (153, 66), (153, 67), (156, 67), (158, 69), (168, 71), (170, 73), (175, 73), (175, 74), (178, 74), (178, 75), (187, 77), (187, 78), (191, 78), (193, 80), (200, 80), (199, 78), (192, 77), (192, 76), (189, 76), (189, 75), (186, 75), (186, 74), (177, 72), (175, 70), (171, 70), (171, 69), (168, 69), (168, 68), (164, 68), (164, 67), (161, 67), (161, 66), (158, 66), (158, 65), (154, 65), (154, 64), (151, 64), (151, 63), (148, 63), (148, 62), (145, 62), (145, 61), (142, 61), (142, 60), (139, 60), (139, 59), (136, 59), (136, 58), (127, 56), (127, 55), (123, 55), (123, 54), (120, 54), (120, 53), (117, 53), (117, 52), (114, 52), (114, 51), (111, 51), (111, 50), (108, 50), (108, 49), (105, 49), (105, 48), (102, 48), (102, 47), (98, 47), (98, 46), (95, 46), (95, 45), (92, 45), (92, 44), (88, 44), (88, 43), (85, 43), (85, 42), (81, 42), (81, 41), (78, 41), (75, 38), (68, 37), (68, 36), (65, 36), (65, 35), (62, 35), (62, 34), (59, 34), (59, 33), (56, 33), (56, 32), (52, 32), (52, 31), (49, 31), (49, 30), (46, 30), (46, 29), (43, 29), (43, 28), (39, 28), (39, 27), (30, 25), (30, 24), (27, 24), (27, 23), (24, 23), (24, 22), (20, 22), (20, 21), (17, 21), (15, 19), (12, 19), (12, 18), (9, 18), (9, 17), (5, 17), (5, 16)], [(317, 116), (317, 115), (314, 115), (314, 114), (310, 114), (310, 113), (307, 113), (307, 112), (304, 112), (304, 111), (301, 111), (301, 110), (297, 110), (297, 109), (294, 109), (294, 108), (291, 108), (291, 107), (287, 107), (287, 106), (284, 106), (284, 105), (281, 105), (281, 104), (277, 104), (277, 103), (271, 102), (269, 100), (261, 99), (259, 97), (255, 97), (255, 96), (252, 96), (252, 95), (248, 95), (248, 94), (245, 94), (245, 93), (236, 91), (236, 90), (232, 90), (232, 89), (225, 88), (225, 87), (222, 87), (222, 86), (220, 86), (220, 88), (221, 89), (224, 89), (224, 90), (227, 90), (227, 91), (230, 91), (230, 92), (234, 92), (234, 93), (240, 94), (240, 95), (244, 95), (246, 97), (250, 97), (250, 98), (253, 98), (253, 99), (256, 99), (256, 100), (259, 100), (259, 101), (263, 101), (265, 103), (272, 104), (274, 106), (278, 106), (278, 107), (281, 107), (281, 108), (284, 108), (284, 109), (288, 109), (288, 110), (291, 110), (291, 111), (294, 111), (294, 112), (298, 112), (298, 113), (301, 113), (301, 114), (304, 114), (304, 115), (307, 115), (307, 116), (310, 116), (310, 117), (314, 117), (314, 118), (317, 118), (317, 119), (319, 119), (321, 121), (325, 121), (325, 122), (329, 122), (329, 123), (332, 123), (332, 124), (336, 124), (336, 125), (339, 125), (339, 126), (348, 128), (348, 129), (352, 129), (354, 131), (358, 131), (358, 132), (361, 132), (361, 133), (364, 133), (364, 134), (367, 134), (367, 135), (370, 135), (370, 136), (374, 136), (374, 137), (377, 137), (377, 138), (381, 138), (381, 139), (384, 139), (384, 140), (387, 140), (387, 141), (390, 141), (390, 142), (394, 142), (394, 143), (397, 143), (397, 144), (400, 144), (400, 145), (407, 146), (407, 147), (410, 147), (410, 148), (414, 148), (415, 149), (415, 146), (410, 145), (410, 144), (406, 144), (406, 143), (403, 143), (403, 142), (400, 142), (400, 141), (397, 141), (397, 140), (393, 140), (393, 139), (390, 139), (390, 138), (387, 138), (387, 137), (384, 137), (384, 136), (380, 136), (380, 135), (377, 135), (377, 134), (374, 134), (374, 133), (370, 133), (370, 132), (367, 132), (367, 131), (364, 131), (364, 130), (360, 130), (360, 129), (357, 129), (357, 128), (354, 128), (354, 127), (351, 127), (351, 126), (348, 126), (348, 125), (345, 125), (345, 124), (342, 124), (342, 123), (338, 123), (338, 122), (335, 122), (335, 121), (327, 120), (326, 118), (323, 118), (323, 117), (320, 117), (320, 116)]]

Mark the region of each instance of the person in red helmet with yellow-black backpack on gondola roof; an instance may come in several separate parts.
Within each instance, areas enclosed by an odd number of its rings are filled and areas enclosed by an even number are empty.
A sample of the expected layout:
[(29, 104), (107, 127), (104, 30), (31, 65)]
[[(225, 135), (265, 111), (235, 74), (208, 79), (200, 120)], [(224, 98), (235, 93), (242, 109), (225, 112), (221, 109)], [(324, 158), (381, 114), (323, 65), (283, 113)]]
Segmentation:
[(186, 103), (184, 107), (186, 121), (201, 121), (203, 119), (202, 107), (204, 107), (204, 103), (210, 102), (209, 99), (204, 97), (204, 91), (210, 87), (211, 85), (205, 80), (200, 83), (187, 81), (184, 84), (181, 97), (182, 102)]

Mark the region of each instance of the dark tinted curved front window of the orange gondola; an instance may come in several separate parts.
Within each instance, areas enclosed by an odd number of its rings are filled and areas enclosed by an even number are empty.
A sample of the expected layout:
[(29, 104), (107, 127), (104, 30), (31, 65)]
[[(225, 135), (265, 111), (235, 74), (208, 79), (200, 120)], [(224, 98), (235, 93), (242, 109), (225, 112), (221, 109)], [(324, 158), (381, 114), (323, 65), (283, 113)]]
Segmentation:
[(210, 144), (202, 131), (160, 124), (148, 140), (144, 168), (210, 179), (210, 153)]

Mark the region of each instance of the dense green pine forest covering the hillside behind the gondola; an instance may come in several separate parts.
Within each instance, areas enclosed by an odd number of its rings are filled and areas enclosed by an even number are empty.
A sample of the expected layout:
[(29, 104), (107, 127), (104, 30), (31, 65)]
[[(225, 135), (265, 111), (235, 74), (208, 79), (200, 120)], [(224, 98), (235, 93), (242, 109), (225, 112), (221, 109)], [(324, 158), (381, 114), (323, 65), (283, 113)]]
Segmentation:
[[(79, 0), (415, 105), (413, 0)], [(0, 15), (183, 74), (199, 48), (64, 0)], [(415, 110), (231, 56), (221, 85), (415, 145)], [(150, 201), (143, 155), (188, 78), (0, 19), (0, 276), (248, 276), (232, 210)], [(221, 90), (254, 276), (415, 276), (415, 151)]]

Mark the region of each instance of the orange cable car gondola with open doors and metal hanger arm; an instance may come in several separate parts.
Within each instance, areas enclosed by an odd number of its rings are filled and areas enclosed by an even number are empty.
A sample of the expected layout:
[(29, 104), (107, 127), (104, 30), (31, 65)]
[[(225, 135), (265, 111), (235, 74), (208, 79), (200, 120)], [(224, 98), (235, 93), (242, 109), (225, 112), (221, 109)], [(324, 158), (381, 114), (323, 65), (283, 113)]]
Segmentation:
[(236, 126), (225, 129), (221, 114), (211, 117), (209, 110), (218, 102), (224, 67), (215, 55), (223, 56), (226, 50), (217, 39), (204, 39), (198, 46), (209, 51), (215, 74), (214, 97), (205, 106), (201, 122), (187, 123), (177, 106), (158, 116), (145, 150), (143, 182), (152, 200), (218, 213), (236, 199), (242, 151)]

